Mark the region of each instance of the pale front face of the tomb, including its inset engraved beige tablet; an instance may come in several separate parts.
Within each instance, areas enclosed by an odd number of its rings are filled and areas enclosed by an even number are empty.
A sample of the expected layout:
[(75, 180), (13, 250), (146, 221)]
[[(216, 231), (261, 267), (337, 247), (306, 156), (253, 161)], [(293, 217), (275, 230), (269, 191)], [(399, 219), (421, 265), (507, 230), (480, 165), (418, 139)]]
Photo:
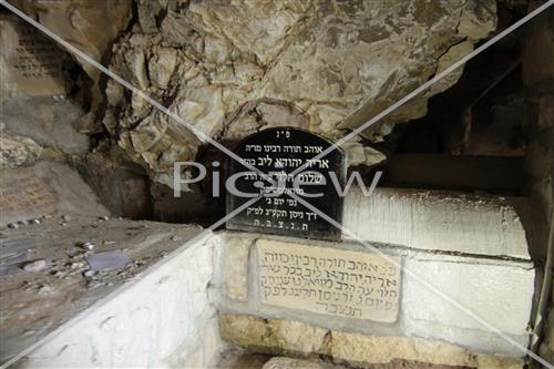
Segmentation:
[[(379, 247), (390, 258), (386, 263), (380, 260), (382, 256), (349, 242), (291, 240), (277, 236), (256, 239), (246, 234), (235, 234), (232, 238), (254, 239), (252, 270), (230, 274), (248, 276), (250, 300), (248, 305), (220, 304), (224, 310), (298, 319), (361, 335), (440, 340), (482, 355), (510, 358), (524, 355), (513, 344), (526, 347), (530, 338), (535, 278), (531, 262)], [(400, 260), (402, 270), (398, 268)], [(317, 267), (310, 268), (314, 263)], [(367, 280), (365, 271), (355, 270), (363, 263), (376, 267), (375, 276), (368, 274)], [(393, 270), (394, 276), (380, 280), (379, 273), (383, 270)], [(358, 274), (357, 280), (350, 279), (352, 273)], [(349, 280), (341, 281), (340, 277)], [(383, 288), (380, 283), (389, 285)], [(338, 289), (345, 294), (340, 295)], [(368, 296), (360, 291), (369, 291), (373, 303), (382, 300), (397, 307), (391, 311), (381, 311), (375, 305), (365, 307)], [(325, 294), (335, 300), (325, 300)], [(329, 306), (334, 310), (327, 311)], [(348, 307), (357, 312), (360, 309), (362, 315), (346, 314)], [(500, 329), (504, 337), (494, 329)]]

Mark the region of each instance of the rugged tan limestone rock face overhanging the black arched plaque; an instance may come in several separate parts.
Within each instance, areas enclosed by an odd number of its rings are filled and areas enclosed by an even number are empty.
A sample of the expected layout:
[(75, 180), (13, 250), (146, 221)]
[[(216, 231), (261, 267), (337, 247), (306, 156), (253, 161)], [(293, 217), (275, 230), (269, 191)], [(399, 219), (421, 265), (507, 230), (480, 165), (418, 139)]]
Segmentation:
[[(496, 22), (493, 0), (155, 0), (137, 9), (111, 69), (224, 141), (274, 125), (337, 140), (470, 52)], [(378, 142), (394, 123), (421, 117), (460, 74), (363, 136)], [(104, 124), (157, 180), (171, 178), (172, 161), (195, 157), (202, 143), (182, 123), (115, 83), (107, 98)], [(356, 164), (384, 158), (362, 147), (347, 147)]]

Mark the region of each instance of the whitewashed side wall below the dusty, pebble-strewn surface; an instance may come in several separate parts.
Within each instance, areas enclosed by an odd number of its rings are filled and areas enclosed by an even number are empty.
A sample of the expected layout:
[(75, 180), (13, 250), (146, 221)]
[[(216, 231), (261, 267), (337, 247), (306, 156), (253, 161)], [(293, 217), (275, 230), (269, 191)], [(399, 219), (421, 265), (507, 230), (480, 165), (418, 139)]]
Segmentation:
[(208, 233), (181, 246), (3, 365), (208, 367), (220, 348), (206, 294), (217, 243)]

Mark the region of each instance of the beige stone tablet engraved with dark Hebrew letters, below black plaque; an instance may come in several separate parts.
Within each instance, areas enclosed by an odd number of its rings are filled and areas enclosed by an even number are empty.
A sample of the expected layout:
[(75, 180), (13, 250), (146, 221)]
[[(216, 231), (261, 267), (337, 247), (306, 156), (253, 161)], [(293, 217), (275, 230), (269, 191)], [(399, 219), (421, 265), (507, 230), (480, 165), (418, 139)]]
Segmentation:
[(399, 256), (269, 239), (257, 242), (257, 253), (263, 304), (383, 322), (398, 318)]

